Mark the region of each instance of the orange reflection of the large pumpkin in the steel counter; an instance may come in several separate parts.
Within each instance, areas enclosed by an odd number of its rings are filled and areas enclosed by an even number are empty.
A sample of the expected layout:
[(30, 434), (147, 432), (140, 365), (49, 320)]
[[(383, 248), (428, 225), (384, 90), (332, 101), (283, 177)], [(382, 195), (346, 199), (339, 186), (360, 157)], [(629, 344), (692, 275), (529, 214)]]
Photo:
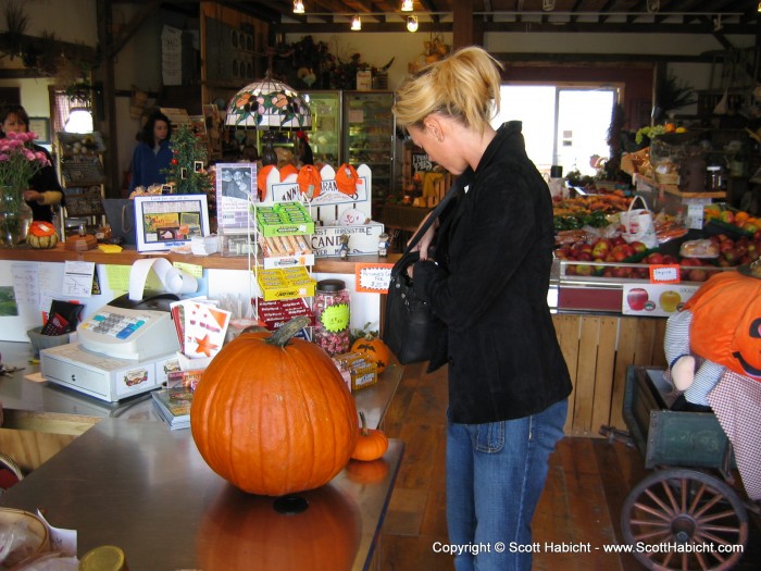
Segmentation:
[[(276, 502), (294, 499), (307, 508), (278, 510)], [(357, 505), (330, 484), (279, 499), (228, 487), (201, 520), (198, 562), (204, 571), (348, 571), (361, 530)]]

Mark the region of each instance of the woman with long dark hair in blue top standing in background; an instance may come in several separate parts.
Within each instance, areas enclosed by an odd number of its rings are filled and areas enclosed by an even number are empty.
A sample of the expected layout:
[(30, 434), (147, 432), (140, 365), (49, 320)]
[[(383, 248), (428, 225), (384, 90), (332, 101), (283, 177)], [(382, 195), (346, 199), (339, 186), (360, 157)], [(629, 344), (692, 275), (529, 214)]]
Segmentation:
[(157, 111), (146, 121), (133, 153), (133, 176), (129, 191), (136, 187), (149, 187), (166, 183), (166, 171), (172, 162), (172, 123)]

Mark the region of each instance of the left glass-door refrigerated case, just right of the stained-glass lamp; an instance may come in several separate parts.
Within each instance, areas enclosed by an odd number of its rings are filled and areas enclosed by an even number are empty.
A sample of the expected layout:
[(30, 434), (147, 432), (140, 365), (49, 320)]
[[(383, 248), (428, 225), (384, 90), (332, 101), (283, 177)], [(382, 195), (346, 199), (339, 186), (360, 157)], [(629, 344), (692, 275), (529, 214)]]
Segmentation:
[(309, 144), (314, 162), (338, 167), (344, 162), (341, 150), (341, 91), (305, 91), (312, 112)]

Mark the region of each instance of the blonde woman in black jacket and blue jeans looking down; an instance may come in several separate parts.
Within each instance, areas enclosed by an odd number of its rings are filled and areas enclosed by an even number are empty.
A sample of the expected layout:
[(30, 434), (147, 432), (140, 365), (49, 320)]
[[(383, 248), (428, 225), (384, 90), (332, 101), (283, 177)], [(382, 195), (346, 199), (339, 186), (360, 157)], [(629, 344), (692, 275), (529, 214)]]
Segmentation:
[(500, 69), (482, 48), (461, 49), (407, 79), (394, 107), (412, 141), (464, 183), (410, 269), (441, 321), (428, 370), (448, 367), (447, 523), (458, 571), (531, 569), (532, 518), (571, 393), (547, 305), (550, 193), (521, 123), (489, 124)]

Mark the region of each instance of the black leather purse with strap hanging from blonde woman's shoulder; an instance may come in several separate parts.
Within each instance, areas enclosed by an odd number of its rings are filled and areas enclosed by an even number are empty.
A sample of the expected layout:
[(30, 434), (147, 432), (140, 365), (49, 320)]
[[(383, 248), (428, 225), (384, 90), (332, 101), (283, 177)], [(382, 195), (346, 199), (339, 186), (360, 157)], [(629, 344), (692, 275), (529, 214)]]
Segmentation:
[(428, 361), (433, 355), (433, 339), (440, 322), (431, 306), (415, 295), (407, 269), (420, 259), (420, 252), (412, 249), (456, 195), (457, 188), (456, 183), (431, 212), (391, 269), (380, 338), (401, 364)]

